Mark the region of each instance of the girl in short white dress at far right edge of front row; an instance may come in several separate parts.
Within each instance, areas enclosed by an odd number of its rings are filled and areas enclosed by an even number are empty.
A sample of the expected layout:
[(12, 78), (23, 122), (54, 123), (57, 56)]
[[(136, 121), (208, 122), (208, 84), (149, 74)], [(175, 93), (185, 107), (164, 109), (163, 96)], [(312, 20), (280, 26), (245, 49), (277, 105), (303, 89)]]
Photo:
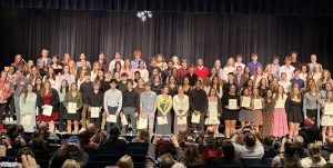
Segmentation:
[(326, 96), (322, 101), (323, 115), (321, 120), (323, 142), (326, 142), (326, 130), (329, 128), (329, 136), (332, 136), (333, 130), (333, 92), (326, 91)]

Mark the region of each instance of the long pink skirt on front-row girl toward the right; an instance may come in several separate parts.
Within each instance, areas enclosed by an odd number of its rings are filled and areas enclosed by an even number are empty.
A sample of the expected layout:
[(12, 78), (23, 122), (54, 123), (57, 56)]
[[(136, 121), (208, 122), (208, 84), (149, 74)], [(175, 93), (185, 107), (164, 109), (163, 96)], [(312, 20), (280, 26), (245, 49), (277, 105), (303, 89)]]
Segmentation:
[(274, 137), (282, 137), (289, 134), (286, 115), (284, 108), (275, 108), (273, 111), (272, 132)]

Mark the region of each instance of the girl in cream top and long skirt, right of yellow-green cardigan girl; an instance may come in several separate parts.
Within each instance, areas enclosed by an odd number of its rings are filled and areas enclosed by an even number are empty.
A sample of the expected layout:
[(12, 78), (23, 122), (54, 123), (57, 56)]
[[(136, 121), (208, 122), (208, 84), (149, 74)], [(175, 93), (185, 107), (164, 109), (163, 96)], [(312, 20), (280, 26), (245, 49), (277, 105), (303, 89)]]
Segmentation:
[(182, 86), (178, 87), (178, 95), (173, 97), (173, 134), (178, 135), (181, 129), (188, 128), (188, 111), (190, 109), (189, 97), (184, 93)]

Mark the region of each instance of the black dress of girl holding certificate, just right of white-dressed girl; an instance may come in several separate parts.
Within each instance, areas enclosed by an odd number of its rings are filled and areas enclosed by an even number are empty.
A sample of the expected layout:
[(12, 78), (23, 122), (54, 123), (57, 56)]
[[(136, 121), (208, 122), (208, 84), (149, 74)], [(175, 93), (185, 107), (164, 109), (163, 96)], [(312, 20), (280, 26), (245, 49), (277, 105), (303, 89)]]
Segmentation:
[(240, 110), (230, 110), (226, 109), (225, 106), (229, 105), (229, 99), (236, 99), (238, 106), (240, 107), (240, 96), (239, 95), (230, 95), (229, 92), (222, 96), (222, 120), (239, 120)]

